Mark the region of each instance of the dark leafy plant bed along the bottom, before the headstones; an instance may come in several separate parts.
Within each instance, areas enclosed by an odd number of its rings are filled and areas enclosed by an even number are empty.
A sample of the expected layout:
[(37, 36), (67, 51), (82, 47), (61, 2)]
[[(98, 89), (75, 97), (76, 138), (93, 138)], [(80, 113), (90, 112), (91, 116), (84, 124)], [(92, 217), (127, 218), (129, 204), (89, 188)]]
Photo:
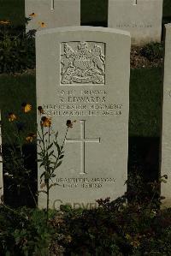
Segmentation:
[[(143, 181), (135, 180), (142, 189)], [(144, 193), (131, 200), (127, 193), (114, 201), (98, 199), (91, 210), (62, 205), (60, 211), (49, 211), (48, 223), (44, 210), (1, 205), (0, 250), (11, 256), (170, 255), (171, 209), (160, 210), (161, 199), (154, 196), (156, 184), (166, 180), (162, 176), (151, 183), (144, 200), (139, 200)]]

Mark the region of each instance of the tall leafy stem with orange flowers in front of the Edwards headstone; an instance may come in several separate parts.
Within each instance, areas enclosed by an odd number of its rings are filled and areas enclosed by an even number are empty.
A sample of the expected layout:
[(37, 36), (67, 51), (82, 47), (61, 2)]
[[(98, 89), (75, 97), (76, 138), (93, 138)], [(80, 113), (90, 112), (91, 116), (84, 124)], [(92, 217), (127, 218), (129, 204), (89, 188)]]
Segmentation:
[[(38, 107), (40, 112), (43, 112), (41, 106)], [(54, 133), (51, 128), (51, 119), (46, 116), (41, 117), (40, 121), (41, 131), (38, 131), (38, 147), (40, 152), (38, 152), (38, 162), (40, 163), (39, 167), (44, 167), (44, 171), (40, 176), (40, 188), (45, 188), (40, 190), (38, 193), (45, 193), (47, 196), (46, 204), (46, 213), (47, 213), (47, 222), (49, 219), (49, 204), (50, 204), (50, 188), (58, 185), (56, 182), (53, 182), (53, 179), (56, 177), (56, 170), (62, 164), (62, 159), (64, 158), (64, 143), (68, 134), (68, 128), (73, 127), (73, 123), (68, 120), (66, 133), (62, 142), (62, 146), (58, 143), (58, 132)], [(46, 130), (47, 129), (47, 130)], [(52, 136), (54, 135), (54, 136)], [(55, 148), (57, 155), (55, 153)]]

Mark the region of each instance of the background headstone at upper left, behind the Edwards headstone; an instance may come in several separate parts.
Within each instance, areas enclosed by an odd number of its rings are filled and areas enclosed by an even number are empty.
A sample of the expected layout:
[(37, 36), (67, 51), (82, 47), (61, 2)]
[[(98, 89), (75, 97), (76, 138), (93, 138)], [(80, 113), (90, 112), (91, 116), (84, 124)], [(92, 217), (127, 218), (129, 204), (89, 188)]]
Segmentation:
[(46, 28), (79, 26), (80, 0), (25, 0), (25, 13), (26, 17), (35, 14), (27, 25), (27, 31), (44, 29), (41, 22)]

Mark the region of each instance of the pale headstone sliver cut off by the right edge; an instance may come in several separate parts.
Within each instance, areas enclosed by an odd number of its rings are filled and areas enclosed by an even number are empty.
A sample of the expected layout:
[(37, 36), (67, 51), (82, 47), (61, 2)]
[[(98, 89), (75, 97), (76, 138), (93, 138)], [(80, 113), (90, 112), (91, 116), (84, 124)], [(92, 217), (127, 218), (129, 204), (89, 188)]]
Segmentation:
[(161, 184), (163, 205), (171, 206), (171, 24), (166, 26), (165, 59), (162, 103), (162, 158), (161, 176), (167, 175), (168, 182)]

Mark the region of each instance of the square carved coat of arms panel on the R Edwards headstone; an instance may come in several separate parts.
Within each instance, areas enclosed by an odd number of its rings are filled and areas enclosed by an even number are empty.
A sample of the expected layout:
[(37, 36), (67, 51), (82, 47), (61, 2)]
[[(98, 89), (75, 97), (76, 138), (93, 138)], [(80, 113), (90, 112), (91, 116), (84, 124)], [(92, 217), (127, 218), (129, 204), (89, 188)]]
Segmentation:
[(61, 84), (105, 83), (105, 44), (68, 42), (61, 45)]

